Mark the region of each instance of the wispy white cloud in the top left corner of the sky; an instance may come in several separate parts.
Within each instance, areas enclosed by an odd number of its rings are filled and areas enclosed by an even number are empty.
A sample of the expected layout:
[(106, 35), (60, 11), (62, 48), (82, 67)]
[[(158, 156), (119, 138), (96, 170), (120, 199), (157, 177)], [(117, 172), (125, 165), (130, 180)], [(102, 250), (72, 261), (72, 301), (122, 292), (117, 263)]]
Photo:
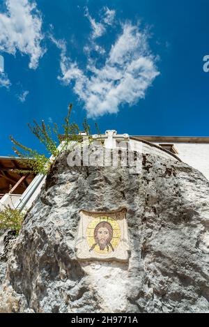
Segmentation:
[(30, 57), (29, 68), (36, 69), (45, 53), (42, 18), (36, 3), (30, 0), (6, 0), (6, 13), (0, 13), (0, 51), (15, 55), (19, 50)]

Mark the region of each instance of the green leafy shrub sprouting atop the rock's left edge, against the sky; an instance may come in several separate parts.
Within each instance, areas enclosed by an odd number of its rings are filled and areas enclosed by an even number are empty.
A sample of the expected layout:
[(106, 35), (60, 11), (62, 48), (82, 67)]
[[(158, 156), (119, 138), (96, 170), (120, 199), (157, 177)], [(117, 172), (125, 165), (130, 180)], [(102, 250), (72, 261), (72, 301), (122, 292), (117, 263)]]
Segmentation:
[[(63, 128), (63, 137), (59, 136), (59, 127), (56, 123), (52, 128), (49, 124), (45, 124), (42, 121), (38, 124), (33, 120), (33, 126), (28, 123), (29, 129), (35, 135), (39, 142), (45, 146), (48, 156), (38, 153), (38, 151), (24, 146), (18, 142), (14, 137), (10, 136), (10, 140), (13, 142), (13, 151), (20, 158), (22, 165), (29, 167), (30, 171), (34, 174), (46, 174), (57, 156), (69, 149), (70, 142), (82, 142), (82, 136), (80, 135), (79, 126), (75, 122), (70, 122), (70, 116), (72, 112), (72, 104), (68, 107), (68, 116), (65, 117), (64, 123), (61, 126)], [(91, 128), (88, 125), (86, 119), (82, 123), (86, 135), (88, 135), (89, 142), (91, 142)], [(61, 145), (59, 145), (61, 142)], [(18, 172), (22, 172), (21, 169), (17, 169)]]

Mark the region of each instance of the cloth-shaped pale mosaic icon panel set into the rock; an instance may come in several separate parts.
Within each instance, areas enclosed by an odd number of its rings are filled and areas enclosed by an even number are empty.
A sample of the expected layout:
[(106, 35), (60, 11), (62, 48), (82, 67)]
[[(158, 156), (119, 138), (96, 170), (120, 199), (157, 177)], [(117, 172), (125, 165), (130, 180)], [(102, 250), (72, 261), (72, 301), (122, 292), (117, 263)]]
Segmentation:
[(77, 259), (128, 261), (127, 208), (116, 211), (80, 210), (75, 243)]

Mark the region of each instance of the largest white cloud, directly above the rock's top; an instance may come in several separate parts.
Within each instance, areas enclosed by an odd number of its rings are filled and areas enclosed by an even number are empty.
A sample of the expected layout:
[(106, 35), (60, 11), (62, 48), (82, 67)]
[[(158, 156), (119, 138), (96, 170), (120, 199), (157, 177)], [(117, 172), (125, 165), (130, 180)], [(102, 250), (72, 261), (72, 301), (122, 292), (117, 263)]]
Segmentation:
[(65, 84), (74, 82), (73, 90), (84, 102), (88, 117), (116, 114), (120, 105), (132, 105), (145, 97), (146, 90), (160, 73), (150, 53), (146, 33), (131, 23), (111, 46), (107, 59), (98, 69), (88, 58), (86, 70), (66, 54), (61, 55), (59, 77)]

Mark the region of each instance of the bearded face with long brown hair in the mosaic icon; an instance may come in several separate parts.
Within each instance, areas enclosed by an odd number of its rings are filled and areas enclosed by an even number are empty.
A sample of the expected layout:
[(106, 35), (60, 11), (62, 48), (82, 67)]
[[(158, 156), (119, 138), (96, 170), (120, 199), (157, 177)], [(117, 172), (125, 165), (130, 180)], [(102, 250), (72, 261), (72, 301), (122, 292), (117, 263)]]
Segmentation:
[(111, 239), (113, 237), (113, 229), (109, 222), (100, 222), (94, 230), (94, 239), (95, 244), (92, 245), (89, 251), (92, 251), (96, 245), (99, 245), (100, 250), (104, 251), (107, 248), (109, 251), (109, 247), (112, 251), (114, 251), (113, 246), (111, 245)]

